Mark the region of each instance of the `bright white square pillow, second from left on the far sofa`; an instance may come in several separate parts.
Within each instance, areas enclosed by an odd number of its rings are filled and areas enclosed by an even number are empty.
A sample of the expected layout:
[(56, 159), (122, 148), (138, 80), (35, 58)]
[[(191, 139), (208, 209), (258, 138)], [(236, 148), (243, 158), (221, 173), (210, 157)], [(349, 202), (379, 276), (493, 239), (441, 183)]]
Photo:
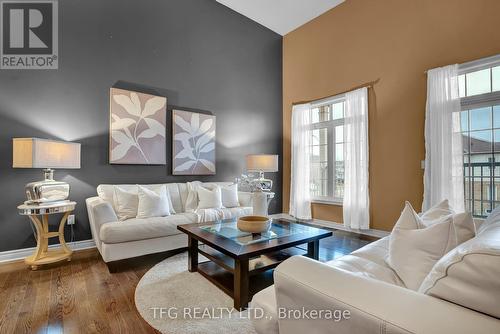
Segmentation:
[(170, 215), (168, 193), (165, 187), (158, 192), (138, 186), (139, 204), (136, 218), (164, 217)]

